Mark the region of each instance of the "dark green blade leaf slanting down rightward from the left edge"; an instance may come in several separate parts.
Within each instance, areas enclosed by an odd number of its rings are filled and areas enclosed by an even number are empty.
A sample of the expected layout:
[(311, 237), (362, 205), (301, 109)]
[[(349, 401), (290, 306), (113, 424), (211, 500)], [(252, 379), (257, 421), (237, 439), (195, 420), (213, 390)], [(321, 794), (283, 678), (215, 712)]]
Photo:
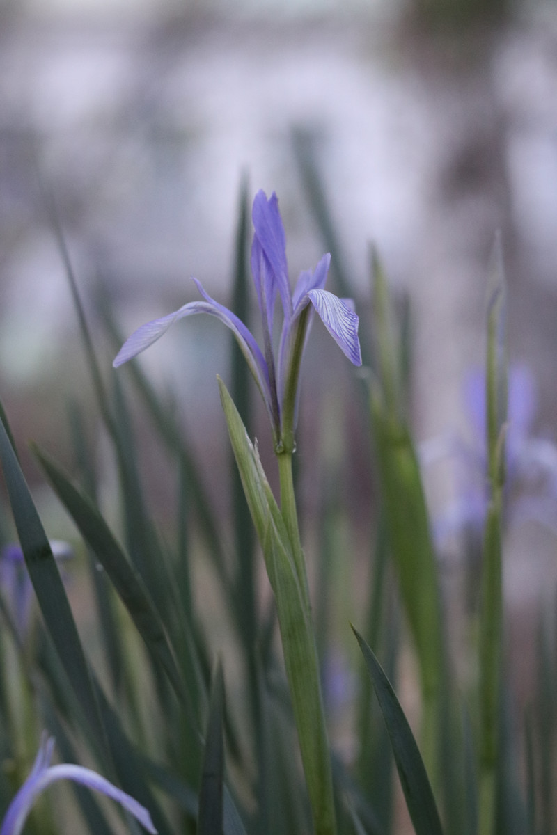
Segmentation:
[(0, 421), (0, 459), (23, 557), (43, 614), (44, 624), (84, 715), (97, 736), (98, 742), (103, 745), (105, 742), (104, 726), (68, 597), (47, 535), (44, 533), (43, 524), (33, 504), (33, 498), (31, 498), (18, 458), (2, 421)]

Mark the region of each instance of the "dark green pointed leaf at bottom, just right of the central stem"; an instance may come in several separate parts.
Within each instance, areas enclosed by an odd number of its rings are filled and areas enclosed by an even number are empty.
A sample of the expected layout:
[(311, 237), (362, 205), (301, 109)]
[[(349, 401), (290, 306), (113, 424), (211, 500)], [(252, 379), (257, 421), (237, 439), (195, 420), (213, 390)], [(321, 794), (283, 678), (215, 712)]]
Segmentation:
[(416, 835), (443, 835), (441, 821), (418, 745), (392, 686), (362, 635), (352, 626), (371, 676), (377, 701), (391, 738), (398, 777)]

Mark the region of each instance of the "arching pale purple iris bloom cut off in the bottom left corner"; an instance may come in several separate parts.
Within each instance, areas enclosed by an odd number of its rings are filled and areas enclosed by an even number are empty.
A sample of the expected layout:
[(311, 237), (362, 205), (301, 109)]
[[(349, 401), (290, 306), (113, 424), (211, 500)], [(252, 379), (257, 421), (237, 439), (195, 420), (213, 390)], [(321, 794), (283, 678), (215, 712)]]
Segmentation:
[(73, 780), (73, 782), (81, 783), (95, 792), (102, 792), (107, 797), (119, 802), (124, 809), (137, 818), (148, 832), (153, 832), (156, 835), (157, 830), (153, 826), (153, 821), (147, 809), (133, 797), (130, 797), (129, 794), (113, 786), (104, 777), (100, 777), (90, 768), (84, 768), (83, 766), (73, 766), (68, 763), (51, 766), (53, 746), (54, 740), (43, 736), (31, 773), (13, 798), (4, 816), (0, 835), (20, 835), (36, 797), (57, 780)]

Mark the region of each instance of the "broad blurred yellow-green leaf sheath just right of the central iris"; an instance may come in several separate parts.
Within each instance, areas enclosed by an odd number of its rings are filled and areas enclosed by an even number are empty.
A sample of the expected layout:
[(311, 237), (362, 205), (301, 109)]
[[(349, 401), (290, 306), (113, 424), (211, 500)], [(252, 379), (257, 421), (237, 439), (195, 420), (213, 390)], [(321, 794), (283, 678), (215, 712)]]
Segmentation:
[(378, 377), (370, 380), (373, 445), (387, 541), (418, 655), (424, 759), (430, 777), (436, 783), (440, 777), (440, 706), (444, 670), (438, 566), (418, 458), (406, 417), (401, 352), (394, 333), (391, 299), (375, 253), (372, 273), (378, 369)]

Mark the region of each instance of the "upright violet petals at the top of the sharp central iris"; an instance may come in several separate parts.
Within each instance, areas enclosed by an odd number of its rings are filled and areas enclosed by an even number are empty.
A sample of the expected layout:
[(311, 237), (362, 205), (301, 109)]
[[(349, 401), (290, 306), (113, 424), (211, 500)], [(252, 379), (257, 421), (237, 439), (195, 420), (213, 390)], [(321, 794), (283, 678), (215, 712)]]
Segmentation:
[[(269, 200), (267, 200), (264, 191), (257, 192), (253, 201), (251, 218), (255, 231), (251, 248), (251, 268), (256, 280), (260, 306), (261, 291), (263, 291), (266, 297), (267, 316), (270, 316), (278, 291), (281, 296), (284, 315), (286, 318), (290, 318), (292, 303), (286, 266), (286, 239), (275, 192), (272, 193)], [(261, 270), (261, 255), (265, 256), (270, 270)], [(271, 321), (272, 315), (270, 316), (270, 325)], [(269, 329), (271, 330), (271, 326)]]

